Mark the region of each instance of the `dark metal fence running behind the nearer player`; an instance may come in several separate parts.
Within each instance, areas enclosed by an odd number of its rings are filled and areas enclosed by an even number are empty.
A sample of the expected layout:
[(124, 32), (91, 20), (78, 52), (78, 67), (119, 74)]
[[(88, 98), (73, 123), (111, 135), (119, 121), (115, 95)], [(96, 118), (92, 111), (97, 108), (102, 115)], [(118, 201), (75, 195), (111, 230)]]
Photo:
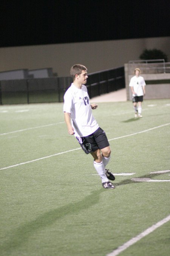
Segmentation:
[[(17, 79), (0, 81), (0, 104), (63, 102), (71, 77)], [(88, 74), (89, 97), (96, 97), (125, 88), (124, 67)]]

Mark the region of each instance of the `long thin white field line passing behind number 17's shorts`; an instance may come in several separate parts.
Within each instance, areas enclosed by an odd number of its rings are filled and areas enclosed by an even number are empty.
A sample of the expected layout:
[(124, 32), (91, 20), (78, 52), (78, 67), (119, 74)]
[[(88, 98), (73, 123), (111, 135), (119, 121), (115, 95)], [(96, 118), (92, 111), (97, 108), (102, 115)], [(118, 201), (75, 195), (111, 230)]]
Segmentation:
[[(129, 137), (129, 136), (136, 135), (136, 134), (143, 133), (143, 132), (148, 132), (150, 130), (154, 130), (154, 129), (157, 129), (157, 128), (160, 128), (160, 127), (163, 127), (163, 126), (167, 126), (169, 124), (170, 123), (162, 124), (160, 126), (156, 126), (156, 127), (153, 127), (153, 128), (147, 129), (147, 130), (143, 130), (141, 132), (135, 132), (135, 133), (131, 133), (131, 134), (128, 134), (128, 135), (121, 136), (121, 137), (113, 138), (113, 139), (110, 139), (108, 141)], [(5, 170), (5, 169), (12, 168), (12, 167), (15, 167), (15, 166), (24, 165), (25, 163), (35, 162), (35, 161), (38, 161), (38, 160), (42, 160), (42, 159), (45, 159), (45, 158), (53, 157), (53, 156), (56, 156), (56, 155), (61, 155), (61, 154), (64, 154), (64, 153), (67, 153), (67, 152), (71, 152), (71, 151), (75, 151), (75, 150), (78, 150), (78, 149), (81, 149), (81, 148), (71, 149), (71, 150), (60, 152), (60, 153), (57, 153), (57, 154), (54, 154), (54, 155), (48, 155), (46, 157), (41, 157), (41, 158), (34, 159), (34, 160), (31, 160), (31, 161), (27, 161), (27, 162), (23, 162), (23, 163), (18, 163), (16, 165), (11, 165), (11, 166), (7, 166), (7, 167), (4, 167), (4, 168), (1, 168), (0, 170)]]

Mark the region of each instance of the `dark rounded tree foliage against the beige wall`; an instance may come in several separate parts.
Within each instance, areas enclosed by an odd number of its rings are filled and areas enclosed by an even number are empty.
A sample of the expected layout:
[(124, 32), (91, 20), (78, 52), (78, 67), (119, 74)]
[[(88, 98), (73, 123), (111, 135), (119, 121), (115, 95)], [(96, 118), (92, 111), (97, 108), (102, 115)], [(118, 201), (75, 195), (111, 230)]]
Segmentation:
[(158, 49), (144, 49), (142, 54), (139, 56), (141, 60), (160, 60), (164, 59), (165, 62), (168, 62), (167, 55)]

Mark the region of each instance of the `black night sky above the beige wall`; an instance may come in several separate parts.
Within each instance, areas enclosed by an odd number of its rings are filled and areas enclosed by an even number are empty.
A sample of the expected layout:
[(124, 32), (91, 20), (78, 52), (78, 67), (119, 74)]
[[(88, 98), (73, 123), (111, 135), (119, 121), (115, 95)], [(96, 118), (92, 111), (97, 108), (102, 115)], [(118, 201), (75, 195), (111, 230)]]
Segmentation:
[(0, 47), (170, 36), (170, 0), (3, 0), (0, 8)]

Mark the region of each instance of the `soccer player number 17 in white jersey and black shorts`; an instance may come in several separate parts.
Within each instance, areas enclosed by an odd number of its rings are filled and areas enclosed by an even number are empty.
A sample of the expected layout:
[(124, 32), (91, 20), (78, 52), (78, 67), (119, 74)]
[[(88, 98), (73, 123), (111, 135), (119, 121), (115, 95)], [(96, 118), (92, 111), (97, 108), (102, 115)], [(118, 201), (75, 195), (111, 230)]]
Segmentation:
[(90, 104), (85, 86), (87, 68), (76, 64), (71, 68), (70, 74), (73, 83), (64, 95), (63, 106), (68, 133), (74, 135), (83, 151), (94, 158), (94, 168), (102, 179), (102, 186), (112, 189), (114, 185), (109, 179), (114, 181), (115, 177), (105, 169), (110, 160), (111, 149), (104, 130), (99, 127), (92, 114), (92, 109), (96, 109), (97, 104)]

